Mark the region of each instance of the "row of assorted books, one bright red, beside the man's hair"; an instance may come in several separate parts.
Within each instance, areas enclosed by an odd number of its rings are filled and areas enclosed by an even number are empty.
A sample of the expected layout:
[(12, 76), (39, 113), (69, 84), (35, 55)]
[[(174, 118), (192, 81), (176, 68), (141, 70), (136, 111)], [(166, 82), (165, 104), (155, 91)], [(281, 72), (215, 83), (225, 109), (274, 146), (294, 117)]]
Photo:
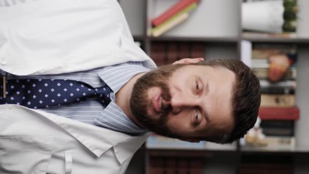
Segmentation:
[[(291, 66), (281, 81), (268, 80), (268, 57), (285, 54)], [(291, 150), (295, 148), (294, 121), (299, 119), (296, 106), (296, 67), (295, 45), (256, 44), (252, 49), (252, 70), (260, 79), (262, 133), (268, 149)]]

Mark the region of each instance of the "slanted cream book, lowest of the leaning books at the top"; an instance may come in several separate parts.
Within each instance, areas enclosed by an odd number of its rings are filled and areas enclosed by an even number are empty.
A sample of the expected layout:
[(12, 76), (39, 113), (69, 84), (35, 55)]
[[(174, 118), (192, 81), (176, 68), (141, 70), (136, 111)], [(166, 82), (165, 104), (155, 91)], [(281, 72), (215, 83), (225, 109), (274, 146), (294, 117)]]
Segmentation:
[(176, 26), (177, 24), (183, 22), (184, 20), (188, 19), (188, 13), (182, 13), (180, 15), (175, 16), (174, 18), (168, 20), (167, 22), (163, 23), (162, 25), (152, 28), (151, 33), (153, 37), (158, 37), (163, 33), (170, 30), (172, 27)]

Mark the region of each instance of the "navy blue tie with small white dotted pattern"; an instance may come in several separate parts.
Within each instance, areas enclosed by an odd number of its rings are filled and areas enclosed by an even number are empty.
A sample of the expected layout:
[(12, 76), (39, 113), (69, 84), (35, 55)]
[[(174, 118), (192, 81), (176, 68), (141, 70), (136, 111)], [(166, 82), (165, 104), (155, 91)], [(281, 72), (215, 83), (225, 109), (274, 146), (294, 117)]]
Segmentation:
[[(100, 88), (93, 88), (85, 82), (75, 80), (7, 79), (5, 85), (2, 81), (0, 104), (17, 104), (38, 109), (90, 98), (97, 98), (104, 107), (110, 103), (111, 90), (106, 84)], [(4, 88), (6, 88), (5, 94), (3, 94)]]

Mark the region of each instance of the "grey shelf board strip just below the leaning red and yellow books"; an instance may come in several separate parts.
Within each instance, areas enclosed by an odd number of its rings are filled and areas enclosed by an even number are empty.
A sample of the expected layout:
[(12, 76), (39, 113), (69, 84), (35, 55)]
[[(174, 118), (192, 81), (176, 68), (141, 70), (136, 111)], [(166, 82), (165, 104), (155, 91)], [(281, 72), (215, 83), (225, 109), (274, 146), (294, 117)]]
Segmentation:
[(162, 36), (162, 37), (149, 37), (152, 41), (196, 41), (196, 42), (234, 42), (238, 39), (236, 37), (174, 37), (174, 36)]

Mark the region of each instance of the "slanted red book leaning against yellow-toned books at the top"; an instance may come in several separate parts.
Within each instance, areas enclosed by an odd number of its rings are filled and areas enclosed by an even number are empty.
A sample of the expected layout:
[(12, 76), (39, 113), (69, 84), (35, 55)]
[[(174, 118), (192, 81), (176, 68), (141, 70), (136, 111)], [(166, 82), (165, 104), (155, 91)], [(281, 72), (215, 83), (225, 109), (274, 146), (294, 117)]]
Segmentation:
[(158, 26), (168, 18), (172, 17), (174, 14), (178, 13), (180, 10), (188, 7), (192, 3), (199, 3), (200, 0), (180, 0), (178, 3), (173, 5), (167, 11), (165, 11), (160, 16), (151, 20), (153, 26)]

